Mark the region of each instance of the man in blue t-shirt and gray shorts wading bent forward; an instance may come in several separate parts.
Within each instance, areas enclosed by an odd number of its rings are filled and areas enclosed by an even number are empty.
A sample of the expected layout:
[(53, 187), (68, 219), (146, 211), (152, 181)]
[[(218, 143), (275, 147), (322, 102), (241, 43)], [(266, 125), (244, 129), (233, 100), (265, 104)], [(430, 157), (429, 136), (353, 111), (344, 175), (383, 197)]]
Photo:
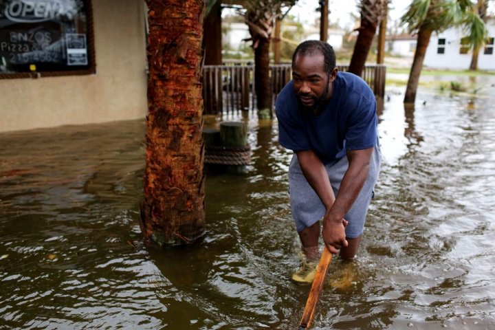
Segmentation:
[(353, 259), (380, 170), (376, 100), (360, 77), (338, 72), (328, 43), (305, 41), (292, 57), (292, 81), (276, 100), (279, 142), (294, 151), (289, 193), (305, 260), (292, 274), (311, 283), (322, 237)]

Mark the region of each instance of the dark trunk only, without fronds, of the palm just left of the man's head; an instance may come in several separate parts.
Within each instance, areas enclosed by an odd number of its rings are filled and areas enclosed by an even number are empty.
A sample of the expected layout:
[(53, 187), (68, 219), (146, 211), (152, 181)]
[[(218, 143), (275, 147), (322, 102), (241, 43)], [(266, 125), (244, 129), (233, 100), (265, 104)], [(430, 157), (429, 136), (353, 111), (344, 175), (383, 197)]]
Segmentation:
[(272, 109), (272, 80), (270, 79), (270, 40), (259, 39), (254, 49), (254, 89), (259, 110)]

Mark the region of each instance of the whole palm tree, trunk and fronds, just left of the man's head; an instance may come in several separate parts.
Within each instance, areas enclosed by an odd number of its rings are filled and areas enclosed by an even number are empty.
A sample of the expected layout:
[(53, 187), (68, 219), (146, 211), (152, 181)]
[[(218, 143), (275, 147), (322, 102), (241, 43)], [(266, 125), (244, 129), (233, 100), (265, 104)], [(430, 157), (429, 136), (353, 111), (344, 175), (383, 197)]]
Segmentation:
[[(272, 81), (270, 78), (270, 39), (275, 20), (283, 19), (297, 0), (243, 1), (240, 13), (248, 24), (254, 50), (254, 90), (261, 117), (272, 117)], [(285, 13), (282, 10), (285, 9)]]

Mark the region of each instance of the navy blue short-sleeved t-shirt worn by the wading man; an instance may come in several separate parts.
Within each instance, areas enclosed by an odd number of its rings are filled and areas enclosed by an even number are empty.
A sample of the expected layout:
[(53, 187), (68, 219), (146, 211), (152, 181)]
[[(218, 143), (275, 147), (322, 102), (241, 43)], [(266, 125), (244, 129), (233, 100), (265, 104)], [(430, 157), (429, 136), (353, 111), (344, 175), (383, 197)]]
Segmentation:
[(375, 95), (354, 74), (338, 72), (333, 94), (318, 116), (298, 109), (292, 81), (278, 94), (275, 109), (280, 144), (294, 152), (312, 150), (323, 164), (377, 144)]

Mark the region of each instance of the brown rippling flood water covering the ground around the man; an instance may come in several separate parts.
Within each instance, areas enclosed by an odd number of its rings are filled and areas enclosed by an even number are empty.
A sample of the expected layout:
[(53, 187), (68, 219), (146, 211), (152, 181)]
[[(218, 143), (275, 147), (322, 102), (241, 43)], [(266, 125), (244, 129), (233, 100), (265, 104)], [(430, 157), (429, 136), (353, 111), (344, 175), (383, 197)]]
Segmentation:
[[(388, 87), (364, 239), (314, 329), (495, 329), (495, 76), (476, 78), (414, 110)], [(165, 250), (137, 222), (143, 121), (0, 134), (0, 329), (296, 329), (291, 153), (249, 117), (252, 164), (207, 172), (206, 239)]]

